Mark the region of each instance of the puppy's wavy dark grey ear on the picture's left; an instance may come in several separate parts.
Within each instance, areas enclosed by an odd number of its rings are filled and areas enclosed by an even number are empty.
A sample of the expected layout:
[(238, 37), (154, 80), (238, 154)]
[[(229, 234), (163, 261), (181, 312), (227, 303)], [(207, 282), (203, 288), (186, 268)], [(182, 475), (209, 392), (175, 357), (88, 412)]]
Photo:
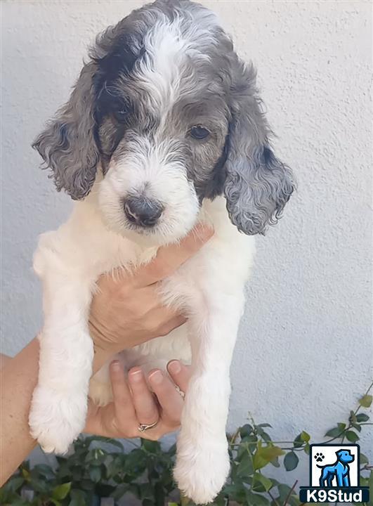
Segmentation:
[(88, 195), (96, 178), (99, 152), (94, 129), (96, 63), (84, 65), (70, 100), (58, 110), (32, 147), (52, 171), (55, 186), (74, 200)]

